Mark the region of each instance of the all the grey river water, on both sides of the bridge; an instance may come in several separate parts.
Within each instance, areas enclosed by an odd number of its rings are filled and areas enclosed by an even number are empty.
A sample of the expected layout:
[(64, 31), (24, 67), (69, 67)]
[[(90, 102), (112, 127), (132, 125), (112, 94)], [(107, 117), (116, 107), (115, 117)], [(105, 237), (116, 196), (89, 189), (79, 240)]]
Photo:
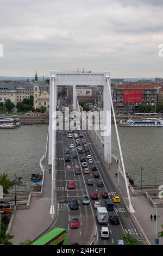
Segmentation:
[[(10, 179), (22, 177), (18, 190), (33, 188), (31, 173), (42, 174), (39, 160), (45, 154), (48, 125), (21, 126), (18, 129), (0, 130), (0, 173), (8, 173)], [(163, 127), (118, 126), (126, 172), (142, 185), (163, 185)], [(112, 124), (112, 153), (118, 154), (114, 124)], [(156, 181), (156, 182), (155, 182)]]

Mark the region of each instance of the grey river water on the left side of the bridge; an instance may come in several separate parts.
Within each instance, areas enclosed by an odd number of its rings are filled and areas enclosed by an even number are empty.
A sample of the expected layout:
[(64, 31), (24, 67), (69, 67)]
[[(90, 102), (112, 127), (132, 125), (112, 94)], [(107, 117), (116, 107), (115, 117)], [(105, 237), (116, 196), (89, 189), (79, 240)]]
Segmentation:
[(30, 174), (42, 171), (39, 160), (45, 154), (48, 125), (35, 124), (18, 129), (0, 129), (0, 173), (10, 179), (22, 177), (17, 190), (33, 190)]

